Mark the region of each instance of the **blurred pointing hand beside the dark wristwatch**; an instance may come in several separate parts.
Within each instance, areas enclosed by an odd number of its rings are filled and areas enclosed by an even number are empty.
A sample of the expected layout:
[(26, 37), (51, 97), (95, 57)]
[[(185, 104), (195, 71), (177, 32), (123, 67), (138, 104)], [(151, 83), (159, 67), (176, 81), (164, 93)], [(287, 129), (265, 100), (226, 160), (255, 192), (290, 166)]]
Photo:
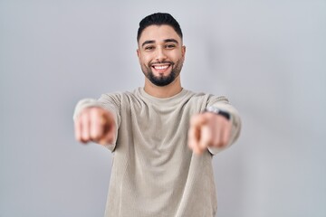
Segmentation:
[(190, 119), (188, 146), (202, 154), (208, 146), (224, 147), (231, 135), (231, 122), (211, 112), (197, 114)]

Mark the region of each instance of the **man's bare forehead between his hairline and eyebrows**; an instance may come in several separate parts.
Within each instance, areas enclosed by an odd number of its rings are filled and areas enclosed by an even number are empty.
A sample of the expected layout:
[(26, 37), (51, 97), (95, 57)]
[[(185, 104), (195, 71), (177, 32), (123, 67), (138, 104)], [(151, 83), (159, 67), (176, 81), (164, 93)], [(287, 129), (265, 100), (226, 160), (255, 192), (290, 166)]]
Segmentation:
[(177, 42), (181, 42), (180, 36), (169, 25), (149, 25), (146, 27), (140, 35), (139, 44), (146, 41), (163, 42), (166, 39), (175, 39)]

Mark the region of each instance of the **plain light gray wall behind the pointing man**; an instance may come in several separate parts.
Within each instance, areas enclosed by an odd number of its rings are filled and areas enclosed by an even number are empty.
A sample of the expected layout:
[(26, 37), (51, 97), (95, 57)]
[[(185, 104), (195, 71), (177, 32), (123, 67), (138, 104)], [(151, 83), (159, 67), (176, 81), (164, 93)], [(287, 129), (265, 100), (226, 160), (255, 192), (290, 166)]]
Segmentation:
[(183, 87), (242, 115), (214, 158), (219, 217), (326, 216), (326, 2), (0, 0), (0, 216), (103, 216), (111, 154), (73, 137), (82, 98), (143, 86), (141, 18), (173, 14)]

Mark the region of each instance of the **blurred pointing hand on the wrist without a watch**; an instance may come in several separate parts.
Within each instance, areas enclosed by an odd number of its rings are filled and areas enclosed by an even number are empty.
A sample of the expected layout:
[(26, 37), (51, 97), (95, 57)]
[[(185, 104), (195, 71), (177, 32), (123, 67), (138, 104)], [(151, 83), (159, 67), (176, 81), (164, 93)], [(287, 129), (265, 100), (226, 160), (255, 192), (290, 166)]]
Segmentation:
[(116, 124), (113, 115), (100, 107), (83, 109), (76, 118), (74, 127), (76, 140), (82, 143), (106, 145), (115, 138)]

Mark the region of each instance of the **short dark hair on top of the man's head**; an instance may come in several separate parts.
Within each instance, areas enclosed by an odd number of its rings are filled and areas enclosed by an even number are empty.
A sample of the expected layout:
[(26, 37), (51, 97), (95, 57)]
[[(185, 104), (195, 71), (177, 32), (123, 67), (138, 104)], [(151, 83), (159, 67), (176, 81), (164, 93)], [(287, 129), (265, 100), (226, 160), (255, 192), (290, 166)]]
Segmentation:
[(146, 27), (148, 27), (149, 25), (162, 25), (162, 24), (167, 24), (171, 26), (176, 31), (178, 36), (180, 36), (180, 38), (182, 39), (182, 31), (180, 25), (177, 23), (177, 20), (171, 14), (155, 13), (146, 16), (144, 19), (142, 19), (139, 22), (137, 42), (139, 42), (140, 35)]

